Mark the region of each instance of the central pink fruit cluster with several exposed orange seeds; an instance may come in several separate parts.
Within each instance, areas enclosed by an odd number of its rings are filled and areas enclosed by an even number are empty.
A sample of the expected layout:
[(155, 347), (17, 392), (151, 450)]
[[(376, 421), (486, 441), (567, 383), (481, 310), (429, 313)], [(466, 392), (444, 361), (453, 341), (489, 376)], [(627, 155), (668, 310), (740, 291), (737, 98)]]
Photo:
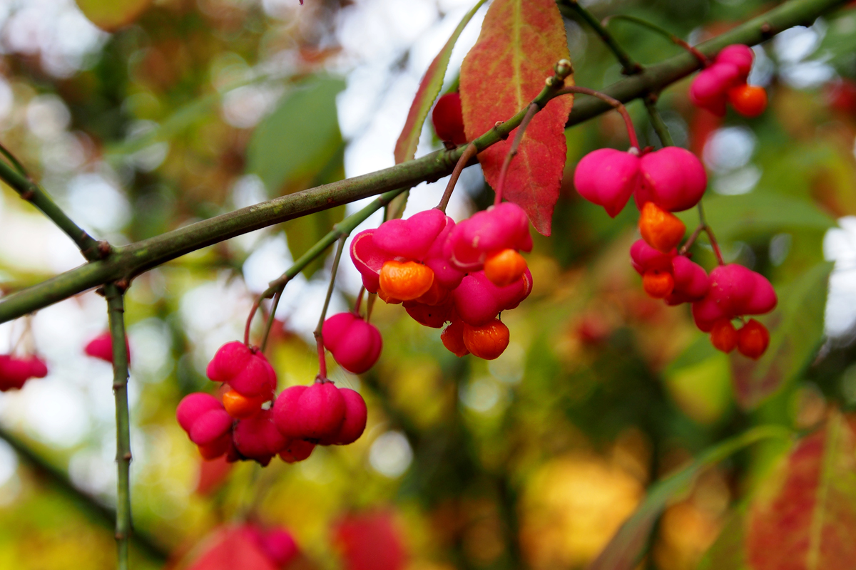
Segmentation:
[[(526, 213), (501, 203), (457, 225), (440, 209), (386, 221), (354, 237), (351, 259), (366, 291), (386, 303), (402, 303), (421, 325), (450, 323), (441, 338), (455, 355), (492, 360), (509, 340), (498, 315), (532, 291), (532, 273), (520, 256), (530, 250)], [(328, 345), (334, 356), (352, 341), (338, 342)]]

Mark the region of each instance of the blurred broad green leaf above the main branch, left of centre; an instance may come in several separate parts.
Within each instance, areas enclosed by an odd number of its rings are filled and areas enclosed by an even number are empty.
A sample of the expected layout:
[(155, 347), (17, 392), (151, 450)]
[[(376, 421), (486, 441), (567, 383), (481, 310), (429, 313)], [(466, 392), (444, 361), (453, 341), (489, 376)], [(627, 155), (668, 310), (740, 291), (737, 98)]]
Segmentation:
[(302, 190), (339, 152), (336, 95), (344, 88), (342, 79), (312, 79), (256, 127), (247, 148), (247, 173), (259, 175), (270, 196)]

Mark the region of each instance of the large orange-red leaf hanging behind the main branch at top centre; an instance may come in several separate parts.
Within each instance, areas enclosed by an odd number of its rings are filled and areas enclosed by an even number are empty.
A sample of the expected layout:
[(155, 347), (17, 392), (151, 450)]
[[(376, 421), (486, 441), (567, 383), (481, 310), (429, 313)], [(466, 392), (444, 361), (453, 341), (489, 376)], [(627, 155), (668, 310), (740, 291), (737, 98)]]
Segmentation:
[[(508, 120), (544, 88), (560, 59), (570, 59), (562, 15), (554, 0), (495, 0), (479, 41), (461, 66), (461, 103), (467, 139)], [(568, 85), (573, 79), (568, 78)], [(553, 208), (559, 199), (567, 144), (565, 122), (571, 97), (556, 97), (526, 129), (518, 155), (508, 169), (503, 197), (526, 210), (538, 232), (550, 235)], [(479, 154), (488, 184), (496, 188), (507, 140)]]

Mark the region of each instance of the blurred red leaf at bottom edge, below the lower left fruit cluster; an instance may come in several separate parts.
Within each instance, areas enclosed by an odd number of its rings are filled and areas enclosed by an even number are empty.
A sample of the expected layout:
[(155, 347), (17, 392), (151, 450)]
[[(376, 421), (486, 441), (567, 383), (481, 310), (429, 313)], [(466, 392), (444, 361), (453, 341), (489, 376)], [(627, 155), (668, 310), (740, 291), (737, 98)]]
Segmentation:
[(205, 540), (187, 570), (277, 570), (253, 535), (243, 526), (221, 527)]

